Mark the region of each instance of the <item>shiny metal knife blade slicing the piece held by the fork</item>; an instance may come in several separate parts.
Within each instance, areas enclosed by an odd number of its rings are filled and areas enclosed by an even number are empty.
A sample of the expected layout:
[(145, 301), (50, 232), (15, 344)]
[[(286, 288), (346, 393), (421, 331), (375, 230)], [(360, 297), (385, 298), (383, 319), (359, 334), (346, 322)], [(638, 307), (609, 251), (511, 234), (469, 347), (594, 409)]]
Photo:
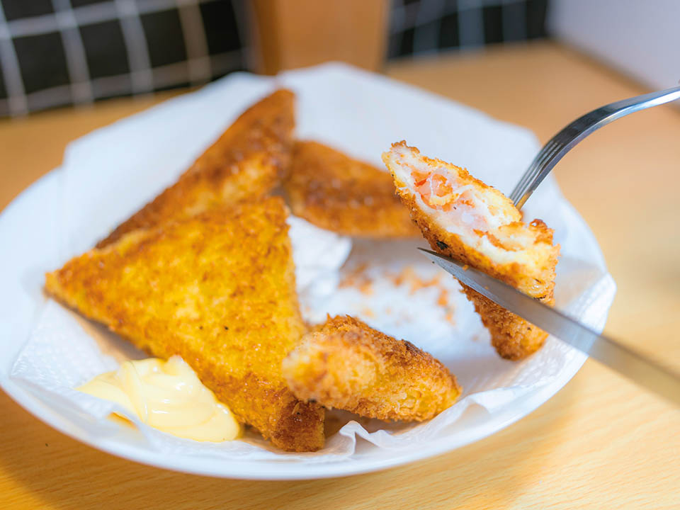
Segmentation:
[(548, 331), (557, 339), (574, 346), (636, 384), (680, 406), (680, 375), (672, 370), (613, 339), (598, 334), (562, 312), (543, 305), (542, 302), (486, 273), (434, 251), (422, 248), (419, 250), (458, 278), (461, 283), (488, 297), (497, 305), (519, 315), (543, 331)]

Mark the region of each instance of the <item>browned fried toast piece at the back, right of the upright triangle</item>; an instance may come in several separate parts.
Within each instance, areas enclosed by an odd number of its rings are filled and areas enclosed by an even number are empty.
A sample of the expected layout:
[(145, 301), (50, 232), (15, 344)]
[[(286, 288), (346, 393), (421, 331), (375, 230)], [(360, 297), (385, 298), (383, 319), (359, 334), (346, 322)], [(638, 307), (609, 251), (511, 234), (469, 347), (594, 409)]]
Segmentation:
[(356, 237), (417, 237), (390, 174), (317, 142), (296, 142), (284, 182), (296, 216)]

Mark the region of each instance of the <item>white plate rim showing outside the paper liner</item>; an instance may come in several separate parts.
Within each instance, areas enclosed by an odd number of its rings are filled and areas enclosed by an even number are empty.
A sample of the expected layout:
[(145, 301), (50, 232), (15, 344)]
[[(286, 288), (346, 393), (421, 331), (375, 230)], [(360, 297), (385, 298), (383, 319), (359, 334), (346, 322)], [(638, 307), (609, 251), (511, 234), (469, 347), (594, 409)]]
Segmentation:
[[(44, 175), (40, 176), (39, 179), (36, 179), (31, 183), (30, 186), (23, 189), (23, 191), (21, 191), (21, 193), (19, 193), (18, 196), (16, 196), (8, 205), (6, 205), (4, 210), (0, 212), (0, 220), (16, 221), (13, 218), (13, 212), (18, 208), (25, 207), (26, 203), (30, 203), (30, 200), (32, 200), (31, 197), (35, 195), (36, 189), (39, 186), (44, 186), (46, 183), (45, 181), (48, 179), (54, 179), (55, 174), (57, 174), (60, 169), (61, 167), (57, 166), (55, 169), (47, 171)], [(570, 209), (570, 212), (578, 216), (582, 227), (594, 240), (594, 248), (599, 256), (599, 261), (601, 261), (604, 266), (604, 256), (602, 255), (600, 246), (597, 244), (596, 238), (592, 234), (589, 226), (567, 200), (565, 200), (564, 205)], [(606, 268), (604, 271), (606, 271)], [(603, 322), (606, 320), (607, 314), (608, 308), (604, 314)], [(20, 339), (20, 341), (25, 342), (26, 339)], [(315, 480), (331, 477), (347, 477), (351, 475), (360, 475), (366, 472), (386, 470), (392, 467), (413, 463), (418, 460), (442, 455), (443, 453), (448, 453), (457, 448), (487, 438), (536, 411), (538, 407), (556, 395), (557, 392), (572, 380), (586, 360), (587, 356), (582, 353), (577, 353), (577, 356), (574, 356), (567, 367), (565, 367), (567, 370), (561, 373), (555, 380), (538, 388), (536, 391), (528, 393), (528, 395), (519, 397), (519, 402), (515, 401), (511, 406), (504, 407), (494, 419), (487, 421), (485, 424), (482, 424), (482, 426), (478, 426), (474, 431), (467, 433), (465, 436), (461, 437), (453, 434), (443, 438), (441, 441), (435, 441), (426, 445), (418, 445), (413, 448), (404, 448), (398, 450), (397, 455), (389, 458), (383, 457), (373, 460), (360, 458), (351, 459), (350, 461), (347, 461), (346, 458), (339, 458), (337, 460), (312, 464), (276, 460), (225, 460), (217, 457), (206, 458), (196, 455), (173, 455), (170, 457), (158, 450), (149, 450), (148, 448), (142, 448), (134, 444), (121, 443), (112, 438), (96, 437), (80, 431), (77, 424), (74, 424), (73, 421), (60, 414), (57, 409), (47, 406), (47, 404), (41, 401), (40, 397), (34, 395), (27, 387), (12, 380), (8, 373), (4, 374), (0, 372), (0, 387), (14, 402), (23, 409), (26, 409), (26, 411), (35, 416), (35, 418), (48, 426), (51, 426), (53, 429), (60, 431), (60, 433), (64, 433), (64, 435), (87, 446), (91, 446), (92, 448), (96, 448), (97, 450), (120, 458), (125, 458), (126, 460), (132, 460), (143, 465), (150, 465), (192, 475), (234, 480)], [(276, 463), (280, 464), (276, 465)], [(281, 469), (283, 466), (285, 466), (285, 469)]]

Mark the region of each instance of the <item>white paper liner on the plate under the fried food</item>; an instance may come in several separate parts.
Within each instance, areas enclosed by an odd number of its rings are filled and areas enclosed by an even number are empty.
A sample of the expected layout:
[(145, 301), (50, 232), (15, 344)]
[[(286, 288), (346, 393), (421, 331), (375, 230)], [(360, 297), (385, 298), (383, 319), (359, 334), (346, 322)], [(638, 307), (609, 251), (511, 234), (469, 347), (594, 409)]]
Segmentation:
[[(509, 191), (538, 144), (523, 128), (382, 77), (331, 64), (276, 79), (298, 94), (298, 132), (344, 149), (376, 165), (391, 142), (406, 139), (428, 156), (467, 166), (502, 191)], [(249, 103), (267, 94), (272, 79), (237, 74), (201, 91), (168, 101), (77, 140), (62, 166), (60, 246), (63, 263), (172, 183), (183, 169)], [(596, 329), (604, 327), (615, 285), (587, 227), (547, 179), (525, 209), (541, 217), (562, 244), (556, 306)], [(422, 424), (384, 424), (329, 413), (348, 421), (317, 453), (282, 453), (255, 433), (243, 441), (198, 443), (141, 424), (147, 448), (166, 455), (225, 459), (326, 462), (370, 455), (371, 448), (401, 450), (465, 433), (520, 399), (566, 380), (585, 356), (548, 339), (534, 356), (502, 360), (458, 283), (416, 250), (423, 242), (352, 242), (291, 217), (290, 236), (302, 311), (312, 322), (330, 314), (352, 314), (387, 334), (412, 341), (445, 363), (464, 387), (453, 407)], [(343, 262), (348, 256), (346, 263)], [(45, 267), (48, 271), (54, 267)], [(141, 358), (102, 327), (48, 301), (11, 370), (18, 384), (77, 424), (89, 436), (116, 436), (107, 419), (126, 414), (101, 399), (73, 390), (121, 359)], [(467, 419), (468, 416), (476, 419)], [(481, 418), (484, 419), (483, 417)], [(357, 438), (366, 441), (358, 447)]]

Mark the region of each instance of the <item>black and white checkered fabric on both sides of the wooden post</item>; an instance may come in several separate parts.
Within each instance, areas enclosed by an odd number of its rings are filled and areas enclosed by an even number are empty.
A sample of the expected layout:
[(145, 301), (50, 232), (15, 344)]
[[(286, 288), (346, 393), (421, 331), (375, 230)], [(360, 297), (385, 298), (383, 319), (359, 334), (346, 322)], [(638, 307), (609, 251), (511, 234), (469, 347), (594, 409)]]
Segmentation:
[[(247, 1), (0, 0), (0, 117), (246, 69)], [(387, 56), (540, 38), (547, 4), (392, 0)]]

